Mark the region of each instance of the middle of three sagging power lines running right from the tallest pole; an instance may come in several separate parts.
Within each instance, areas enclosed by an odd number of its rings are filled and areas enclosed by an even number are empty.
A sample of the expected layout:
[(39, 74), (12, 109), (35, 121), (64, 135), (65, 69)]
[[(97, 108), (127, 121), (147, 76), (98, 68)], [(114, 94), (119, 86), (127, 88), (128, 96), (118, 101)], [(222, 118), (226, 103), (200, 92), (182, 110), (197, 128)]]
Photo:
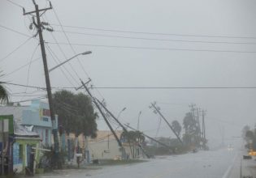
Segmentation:
[[(55, 32), (62, 32), (55, 30)], [(133, 36), (113, 36), (113, 35), (102, 35), (96, 33), (84, 33), (84, 32), (69, 32), (70, 34), (78, 34), (85, 36), (102, 36), (102, 37), (114, 37), (114, 38), (123, 38), (123, 39), (132, 39), (132, 40), (158, 40), (158, 41), (173, 41), (173, 42), (187, 42), (187, 43), (208, 43), (208, 44), (256, 44), (254, 42), (229, 42), (229, 41), (206, 41), (206, 40), (172, 40), (172, 39), (159, 39), (159, 38), (145, 38), (145, 37), (133, 37)]]

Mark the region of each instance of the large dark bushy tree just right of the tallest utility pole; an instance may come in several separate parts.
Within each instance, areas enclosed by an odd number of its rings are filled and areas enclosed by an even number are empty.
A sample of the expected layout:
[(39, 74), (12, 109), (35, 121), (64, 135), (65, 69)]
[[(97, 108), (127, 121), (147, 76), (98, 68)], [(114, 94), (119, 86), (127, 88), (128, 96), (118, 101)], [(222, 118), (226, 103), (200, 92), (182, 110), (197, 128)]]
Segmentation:
[(92, 101), (83, 93), (73, 94), (71, 91), (56, 91), (54, 93), (54, 108), (59, 116), (59, 125), (67, 134), (84, 134), (97, 136), (97, 112), (94, 112)]

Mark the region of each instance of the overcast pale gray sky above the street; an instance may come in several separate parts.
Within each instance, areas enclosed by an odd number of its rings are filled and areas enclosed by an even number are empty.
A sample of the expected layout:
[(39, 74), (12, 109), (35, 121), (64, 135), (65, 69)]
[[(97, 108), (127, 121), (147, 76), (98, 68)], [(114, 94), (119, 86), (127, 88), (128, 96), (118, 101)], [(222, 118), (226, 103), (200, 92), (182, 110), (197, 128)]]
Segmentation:
[[(12, 0), (26, 11), (33, 11), (29, 0)], [(38, 1), (41, 8), (48, 6), (45, 0)], [(223, 50), (256, 52), (255, 44), (216, 44), (180, 42), (171, 40), (203, 40), (226, 42), (256, 42), (256, 2), (253, 0), (194, 0), (194, 1), (81, 1), (52, 0), (54, 11), (61, 23), (83, 28), (65, 28), (66, 32), (80, 32), (87, 35), (67, 33), (76, 53), (92, 50), (93, 54), (82, 56), (80, 65), (77, 59), (65, 65), (67, 71), (54, 70), (50, 74), (53, 87), (77, 87), (79, 78), (93, 79), (98, 87), (255, 87), (256, 53), (231, 53), (209, 51), (187, 51), (170, 49)], [(54, 11), (42, 15), (44, 21), (58, 24)], [(24, 16), (22, 9), (7, 0), (0, 0), (0, 25), (13, 28), (31, 36), (28, 29), (30, 16)], [(67, 43), (62, 29), (53, 26), (56, 32), (44, 32), (47, 42)], [(145, 33), (125, 33), (96, 31), (85, 28), (102, 28), (132, 32), (153, 32), (183, 34), (196, 36), (149, 35)], [(0, 65), (7, 76), (1, 80), (24, 85), (45, 86), (41, 59), (34, 61), (13, 74), (13, 70), (41, 57), (36, 39), (29, 40), (15, 53), (6, 57), (17, 46), (28, 39), (0, 27)], [(53, 36), (54, 38), (53, 38)], [(93, 35), (93, 36), (92, 36)], [(105, 35), (105, 36), (96, 36)], [(135, 40), (107, 36), (125, 36), (135, 38), (154, 38), (163, 40)], [(200, 36), (250, 36), (254, 38), (225, 38)], [(126, 46), (138, 48), (99, 47), (95, 45)], [(58, 45), (47, 44), (46, 52), (49, 67), (56, 65), (49, 50), (52, 49), (60, 61), (65, 57)], [(48, 47), (49, 46), (49, 47)], [(67, 58), (74, 56), (69, 45), (60, 45)], [(48, 49), (50, 48), (50, 49)], [(157, 49), (156, 49), (157, 48)], [(165, 49), (165, 50), (163, 50)], [(167, 50), (168, 49), (168, 50)], [(33, 52), (35, 51), (34, 55)], [(32, 59), (32, 60), (33, 60)], [(88, 74), (87, 76), (85, 74)], [(29, 72), (28, 72), (29, 71)], [(28, 74), (29, 73), (29, 74)], [(8, 75), (9, 74), (9, 75)], [(77, 75), (78, 76), (77, 76)], [(79, 78), (78, 78), (79, 77)], [(76, 78), (73, 81), (72, 78)], [(10, 93), (27, 92), (32, 96), (11, 96), (11, 100), (26, 100), (45, 94), (31, 88), (8, 86)], [(207, 110), (206, 134), (211, 140), (220, 139), (219, 128), (225, 128), (225, 136), (239, 136), (244, 125), (254, 125), (256, 89), (173, 89), (173, 90), (106, 90), (99, 89), (107, 105), (116, 115), (126, 107), (120, 121), (137, 125), (137, 116), (141, 114), (141, 129), (150, 130), (147, 134), (155, 136), (158, 116), (149, 109), (150, 102), (157, 101), (168, 121), (174, 119), (182, 122), (188, 105), (197, 104)], [(33, 92), (33, 94), (30, 94)], [(93, 91), (99, 99), (97, 91)], [(36, 96), (35, 96), (36, 95)], [(99, 129), (106, 129), (102, 120), (98, 121)], [(163, 128), (158, 136), (172, 136), (162, 122)]]

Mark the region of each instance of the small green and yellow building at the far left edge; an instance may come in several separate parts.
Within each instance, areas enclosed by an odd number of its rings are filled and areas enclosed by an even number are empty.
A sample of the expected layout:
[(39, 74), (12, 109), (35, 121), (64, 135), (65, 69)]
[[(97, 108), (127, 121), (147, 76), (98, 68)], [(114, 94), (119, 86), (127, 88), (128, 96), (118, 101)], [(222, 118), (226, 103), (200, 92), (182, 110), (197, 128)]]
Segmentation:
[(14, 121), (13, 115), (1, 115), (0, 125), (1, 175), (34, 172), (39, 163), (39, 135)]

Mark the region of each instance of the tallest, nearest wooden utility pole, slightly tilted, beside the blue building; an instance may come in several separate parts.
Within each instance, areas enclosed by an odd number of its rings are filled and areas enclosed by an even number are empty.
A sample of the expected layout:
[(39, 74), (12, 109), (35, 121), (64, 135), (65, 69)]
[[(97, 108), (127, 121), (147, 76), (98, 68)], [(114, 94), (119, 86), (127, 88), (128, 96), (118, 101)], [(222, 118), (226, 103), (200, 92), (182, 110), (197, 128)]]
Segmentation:
[[(30, 11), (30, 12), (25, 12), (24, 10), (24, 15), (32, 15), (36, 14), (37, 17), (37, 23), (34, 20), (33, 17), (33, 25), (37, 28), (37, 34), (39, 35), (39, 40), (40, 40), (40, 46), (41, 46), (41, 56), (44, 64), (44, 70), (45, 70), (45, 76), (46, 76), (46, 89), (47, 89), (47, 95), (48, 95), (48, 103), (49, 103), (49, 108), (50, 108), (50, 119), (52, 121), (52, 133), (54, 135), (54, 153), (55, 153), (55, 158), (57, 159), (55, 163), (57, 163), (58, 167), (61, 167), (61, 162), (59, 161), (59, 139), (58, 139), (58, 126), (56, 124), (55, 116), (54, 116), (54, 106), (53, 106), (53, 100), (52, 100), (52, 93), (51, 93), (51, 87), (50, 87), (50, 77), (49, 77), (49, 71), (48, 71), (48, 66), (47, 66), (47, 59), (46, 59), (46, 49), (45, 49), (45, 43), (44, 39), (42, 36), (42, 30), (46, 29), (47, 31), (52, 32), (53, 30), (50, 28), (45, 28), (44, 25), (49, 25), (48, 23), (41, 23), (40, 20), (40, 14), (39, 12), (43, 11), (45, 13), (48, 10), (52, 9), (51, 3), (50, 7), (41, 9), (39, 10), (37, 3), (35, 0), (33, 0), (33, 4), (35, 5), (35, 11)], [(36, 35), (37, 36), (37, 35)]]

